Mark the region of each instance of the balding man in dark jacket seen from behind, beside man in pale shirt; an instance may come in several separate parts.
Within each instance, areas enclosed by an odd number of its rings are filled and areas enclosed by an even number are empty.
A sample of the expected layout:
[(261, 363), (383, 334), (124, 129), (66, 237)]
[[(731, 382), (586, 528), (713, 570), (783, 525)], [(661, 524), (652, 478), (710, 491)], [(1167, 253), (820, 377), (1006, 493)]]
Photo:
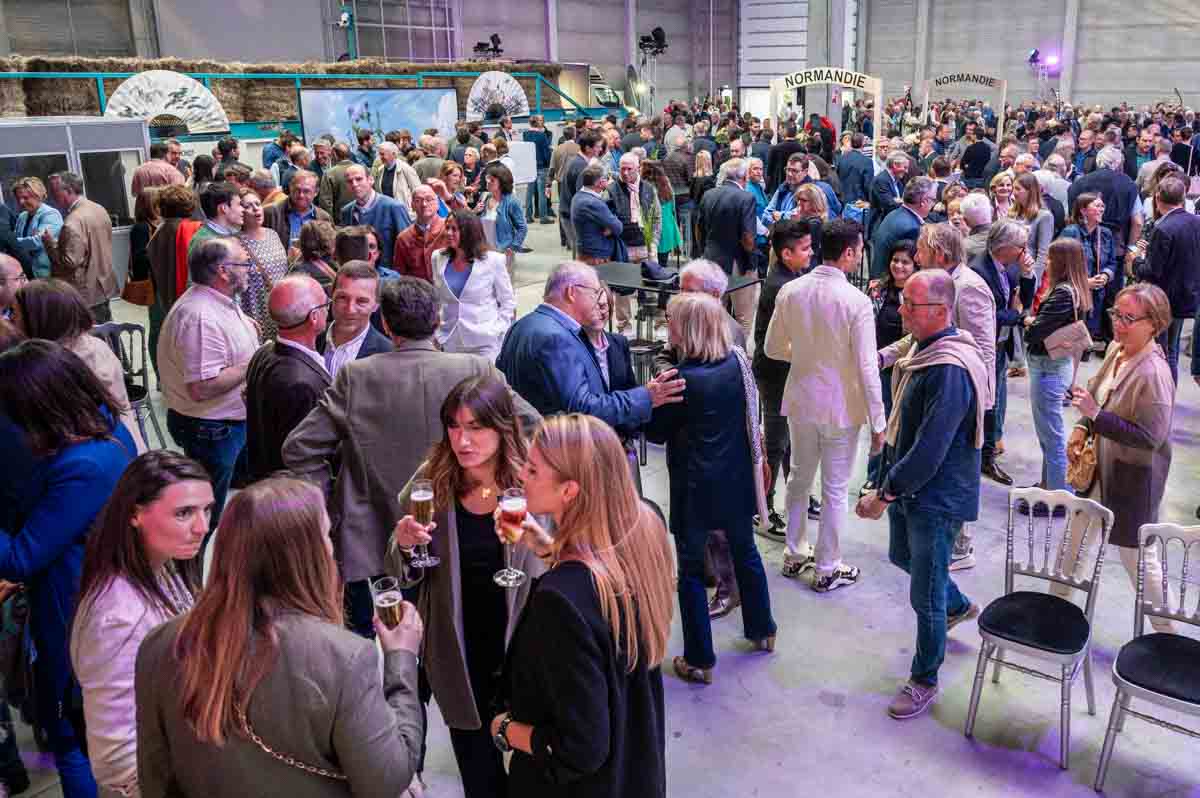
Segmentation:
[(329, 298), (316, 280), (289, 275), (275, 283), (268, 312), (278, 337), (264, 344), (246, 370), (246, 454), (250, 479), (282, 470), (283, 440), (329, 388), (317, 336), (329, 323)]

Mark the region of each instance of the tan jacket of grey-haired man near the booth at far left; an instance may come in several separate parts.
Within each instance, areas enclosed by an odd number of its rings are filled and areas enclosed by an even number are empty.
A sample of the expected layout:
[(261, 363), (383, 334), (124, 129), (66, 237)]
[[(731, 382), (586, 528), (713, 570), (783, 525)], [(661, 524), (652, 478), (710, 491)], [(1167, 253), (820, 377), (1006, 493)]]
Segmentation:
[(58, 244), (49, 250), (50, 276), (78, 288), (88, 307), (116, 295), (113, 221), (103, 205), (80, 197), (62, 220)]

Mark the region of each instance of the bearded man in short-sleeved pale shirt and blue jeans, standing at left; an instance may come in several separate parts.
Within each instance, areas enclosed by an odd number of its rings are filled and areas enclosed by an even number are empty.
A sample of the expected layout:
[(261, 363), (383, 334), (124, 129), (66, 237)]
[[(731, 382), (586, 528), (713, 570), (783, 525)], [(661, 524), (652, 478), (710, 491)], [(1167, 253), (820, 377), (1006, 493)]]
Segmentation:
[[(221, 520), (234, 464), (246, 443), (242, 388), (259, 330), (242, 312), (238, 295), (246, 290), (252, 265), (236, 239), (194, 245), (187, 254), (192, 286), (172, 305), (158, 334), (167, 430), (212, 478), (210, 530)], [(204, 562), (203, 552), (194, 562)]]

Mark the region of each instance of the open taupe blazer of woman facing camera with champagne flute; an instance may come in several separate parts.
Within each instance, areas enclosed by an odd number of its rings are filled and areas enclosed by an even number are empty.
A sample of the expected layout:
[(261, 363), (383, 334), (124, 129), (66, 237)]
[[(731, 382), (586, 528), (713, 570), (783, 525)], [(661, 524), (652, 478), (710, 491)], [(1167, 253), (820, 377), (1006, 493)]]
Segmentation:
[[(421, 463), (413, 479), (426, 475), (427, 463)], [(408, 506), (413, 482), (400, 494), (401, 506)], [(408, 558), (396, 546), (395, 538), (388, 546), (386, 572), (400, 578), (406, 588), (420, 584), (416, 607), (425, 622), (425, 638), (421, 641), (421, 665), (425, 677), (437, 698), (442, 718), (450, 728), (481, 728), (491, 718), (480, 718), (475, 708), (475, 694), (470, 689), (467, 672), (467, 641), (462, 634), (462, 576), (458, 566), (458, 523), (454, 506), (433, 514), (437, 527), (430, 550), (442, 558), (437, 568), (419, 569), (408, 564)], [(545, 518), (538, 520), (547, 526)], [(529, 599), (533, 580), (546, 572), (546, 566), (528, 546), (512, 547), (512, 568), (524, 571), (528, 577), (521, 587), (505, 590), (509, 622), (504, 630), (508, 648), (512, 632), (521, 620), (521, 612)]]

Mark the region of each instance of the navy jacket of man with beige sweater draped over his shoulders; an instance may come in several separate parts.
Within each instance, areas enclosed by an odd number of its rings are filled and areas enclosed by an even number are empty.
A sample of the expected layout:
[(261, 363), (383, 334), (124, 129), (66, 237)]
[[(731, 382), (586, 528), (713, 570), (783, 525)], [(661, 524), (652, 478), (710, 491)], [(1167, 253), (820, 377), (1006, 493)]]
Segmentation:
[[(919, 346), (950, 335), (949, 328)], [(956, 521), (979, 517), (980, 450), (976, 449), (976, 395), (971, 376), (958, 366), (930, 366), (912, 373), (900, 407), (900, 432), (889, 446), (886, 494), (906, 508), (940, 512)]]

